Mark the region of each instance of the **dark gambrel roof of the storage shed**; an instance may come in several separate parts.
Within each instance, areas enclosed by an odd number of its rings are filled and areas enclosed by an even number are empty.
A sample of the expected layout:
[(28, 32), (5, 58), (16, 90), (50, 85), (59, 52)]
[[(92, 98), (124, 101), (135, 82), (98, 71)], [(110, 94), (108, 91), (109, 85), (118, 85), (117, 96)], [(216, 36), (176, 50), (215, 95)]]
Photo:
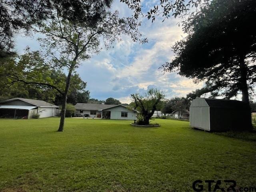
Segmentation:
[(202, 98), (202, 99), (206, 101), (209, 107), (248, 108), (246, 103), (238, 100), (210, 99), (210, 98)]

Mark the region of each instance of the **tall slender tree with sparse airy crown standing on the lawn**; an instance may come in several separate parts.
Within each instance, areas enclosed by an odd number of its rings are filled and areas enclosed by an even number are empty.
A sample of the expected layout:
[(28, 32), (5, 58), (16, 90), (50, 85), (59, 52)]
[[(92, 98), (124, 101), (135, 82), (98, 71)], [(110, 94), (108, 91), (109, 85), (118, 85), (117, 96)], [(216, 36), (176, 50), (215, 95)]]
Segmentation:
[[(90, 5), (93, 12), (94, 6)], [(106, 10), (108, 7), (106, 7)], [(88, 60), (94, 54), (100, 52), (102, 41), (106, 48), (116, 40), (121, 40), (121, 34), (128, 34), (134, 40), (138, 40), (137, 23), (130, 18), (119, 18), (118, 12), (104, 11), (101, 12), (100, 20), (97, 22), (77, 22), (67, 20), (56, 9), (56, 16), (51, 20), (42, 23), (34, 30), (46, 36), (40, 38), (45, 55), (59, 68), (66, 68), (68, 76), (66, 78), (66, 87), (62, 99), (62, 112), (60, 126), (58, 131), (63, 131), (64, 118), (66, 110), (66, 101), (70, 88), (70, 78), (72, 73), (78, 68), (82, 61)], [(146, 41), (145, 39), (142, 42)]]

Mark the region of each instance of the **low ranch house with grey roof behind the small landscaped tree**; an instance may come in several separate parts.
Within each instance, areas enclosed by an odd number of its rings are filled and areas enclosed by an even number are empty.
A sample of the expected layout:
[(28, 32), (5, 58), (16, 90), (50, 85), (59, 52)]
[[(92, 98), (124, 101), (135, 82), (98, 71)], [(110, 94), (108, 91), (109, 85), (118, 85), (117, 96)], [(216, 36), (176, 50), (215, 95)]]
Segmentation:
[(138, 111), (129, 109), (124, 105), (106, 105), (77, 103), (75, 105), (76, 116), (88, 116), (103, 119), (127, 119), (137, 120)]

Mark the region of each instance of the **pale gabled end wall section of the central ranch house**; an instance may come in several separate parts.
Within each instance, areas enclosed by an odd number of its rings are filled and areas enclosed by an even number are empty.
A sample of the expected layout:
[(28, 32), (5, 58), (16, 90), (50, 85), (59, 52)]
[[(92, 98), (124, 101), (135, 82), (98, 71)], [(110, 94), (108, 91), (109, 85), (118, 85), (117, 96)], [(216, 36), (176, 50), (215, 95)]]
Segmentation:
[[(137, 120), (137, 112), (131, 111), (124, 106), (116, 106), (103, 111), (110, 111), (110, 119)], [(122, 112), (127, 112), (127, 117), (121, 117)]]

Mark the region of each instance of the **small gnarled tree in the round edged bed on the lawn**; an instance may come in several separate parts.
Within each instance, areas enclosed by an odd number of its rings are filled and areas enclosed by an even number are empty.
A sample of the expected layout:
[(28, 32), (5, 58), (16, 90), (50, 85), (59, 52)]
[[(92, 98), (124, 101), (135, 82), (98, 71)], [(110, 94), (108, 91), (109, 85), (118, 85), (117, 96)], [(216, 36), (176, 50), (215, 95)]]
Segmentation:
[(142, 118), (138, 121), (138, 124), (148, 125), (150, 118), (158, 108), (158, 104), (164, 99), (164, 94), (158, 89), (150, 88), (144, 96), (140, 94), (131, 94), (131, 96), (135, 106), (134, 109), (140, 112)]

